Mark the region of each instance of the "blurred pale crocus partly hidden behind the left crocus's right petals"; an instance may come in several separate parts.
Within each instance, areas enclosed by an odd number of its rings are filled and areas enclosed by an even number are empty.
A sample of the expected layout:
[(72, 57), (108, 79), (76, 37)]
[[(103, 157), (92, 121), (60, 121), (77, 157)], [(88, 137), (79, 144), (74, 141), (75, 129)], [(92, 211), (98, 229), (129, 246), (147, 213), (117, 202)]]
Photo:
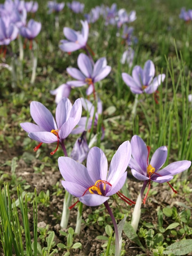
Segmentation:
[[(88, 101), (87, 99), (84, 99), (84, 98), (80, 98), (80, 99), (81, 99), (83, 108), (89, 113), (89, 116), (80, 118), (77, 128), (72, 130), (72, 132), (71, 132), (72, 134), (78, 134), (78, 133), (84, 132), (85, 130), (90, 130), (92, 127), (94, 116), (95, 116), (94, 126), (97, 126), (99, 115), (102, 114), (102, 102), (100, 101), (99, 98), (97, 101), (97, 111), (96, 112), (95, 112), (94, 105), (90, 101)], [(103, 139), (104, 135), (105, 135), (103, 126), (101, 128), (101, 131), (102, 131), (101, 139)]]

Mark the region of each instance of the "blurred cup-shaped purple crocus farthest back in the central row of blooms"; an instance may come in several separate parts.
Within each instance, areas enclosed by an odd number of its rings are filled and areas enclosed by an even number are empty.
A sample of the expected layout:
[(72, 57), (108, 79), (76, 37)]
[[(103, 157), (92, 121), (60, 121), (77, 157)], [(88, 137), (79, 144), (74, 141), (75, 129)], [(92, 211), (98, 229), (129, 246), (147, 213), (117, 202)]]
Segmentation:
[(87, 39), (89, 35), (89, 25), (87, 20), (80, 21), (83, 28), (80, 32), (77, 32), (69, 27), (64, 27), (63, 34), (67, 40), (60, 40), (59, 48), (63, 52), (74, 52), (78, 49), (85, 48), (87, 44)]

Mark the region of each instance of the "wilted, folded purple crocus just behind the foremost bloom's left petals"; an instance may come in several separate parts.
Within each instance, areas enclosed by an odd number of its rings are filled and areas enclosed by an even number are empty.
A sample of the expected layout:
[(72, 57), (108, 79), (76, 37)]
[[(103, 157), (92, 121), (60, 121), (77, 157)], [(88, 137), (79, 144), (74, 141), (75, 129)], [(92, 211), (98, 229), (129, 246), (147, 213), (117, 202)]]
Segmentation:
[(71, 158), (82, 163), (88, 155), (89, 146), (87, 145), (86, 131), (76, 140), (73, 150), (71, 151)]

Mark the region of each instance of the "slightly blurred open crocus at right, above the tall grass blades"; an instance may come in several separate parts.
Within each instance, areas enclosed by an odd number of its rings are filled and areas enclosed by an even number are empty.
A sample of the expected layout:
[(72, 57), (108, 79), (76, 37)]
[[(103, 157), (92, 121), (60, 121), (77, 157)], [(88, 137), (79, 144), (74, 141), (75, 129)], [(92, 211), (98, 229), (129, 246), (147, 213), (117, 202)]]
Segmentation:
[(132, 76), (122, 73), (123, 81), (135, 94), (155, 92), (161, 82), (165, 79), (165, 74), (159, 74), (154, 78), (155, 66), (150, 60), (145, 62), (144, 69), (136, 65), (132, 70)]

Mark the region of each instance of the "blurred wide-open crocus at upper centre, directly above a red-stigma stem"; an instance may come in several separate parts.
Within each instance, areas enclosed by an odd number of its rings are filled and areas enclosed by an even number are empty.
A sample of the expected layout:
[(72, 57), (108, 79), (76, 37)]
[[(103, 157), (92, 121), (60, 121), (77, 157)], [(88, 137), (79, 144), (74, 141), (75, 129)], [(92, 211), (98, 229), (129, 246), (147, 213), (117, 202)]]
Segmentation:
[(90, 58), (83, 53), (80, 53), (77, 59), (77, 65), (80, 70), (75, 67), (68, 67), (67, 72), (78, 81), (68, 81), (67, 84), (74, 87), (81, 87), (88, 85), (87, 95), (94, 91), (94, 83), (104, 79), (111, 71), (111, 67), (107, 66), (105, 57), (98, 59), (96, 63), (92, 64)]

